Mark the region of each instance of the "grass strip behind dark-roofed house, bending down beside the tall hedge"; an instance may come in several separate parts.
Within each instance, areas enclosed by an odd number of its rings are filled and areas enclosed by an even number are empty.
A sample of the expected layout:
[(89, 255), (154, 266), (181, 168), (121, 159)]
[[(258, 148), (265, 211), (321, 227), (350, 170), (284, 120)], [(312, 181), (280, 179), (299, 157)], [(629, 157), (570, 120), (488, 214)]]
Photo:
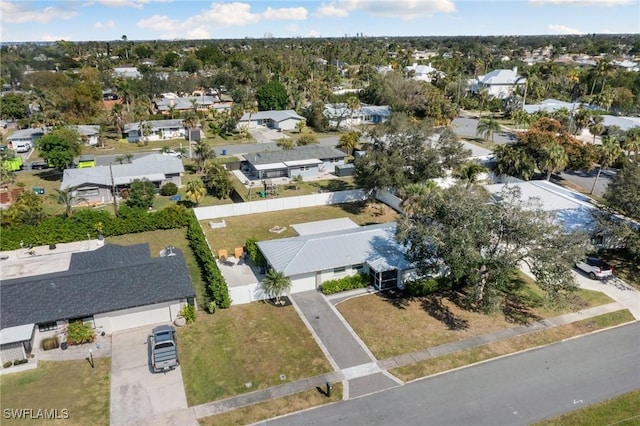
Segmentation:
[(158, 257), (160, 255), (160, 250), (164, 249), (168, 245), (179, 248), (184, 255), (184, 260), (187, 263), (187, 269), (189, 269), (189, 276), (191, 277), (191, 282), (193, 283), (193, 288), (196, 292), (196, 300), (207, 300), (205, 296), (205, 285), (202, 281), (202, 274), (198, 267), (198, 263), (191, 252), (191, 248), (189, 248), (189, 241), (187, 241), (185, 229), (159, 229), (157, 231), (140, 232), (138, 234), (125, 234), (117, 237), (108, 237), (106, 242), (125, 246), (149, 243), (151, 256), (153, 257)]

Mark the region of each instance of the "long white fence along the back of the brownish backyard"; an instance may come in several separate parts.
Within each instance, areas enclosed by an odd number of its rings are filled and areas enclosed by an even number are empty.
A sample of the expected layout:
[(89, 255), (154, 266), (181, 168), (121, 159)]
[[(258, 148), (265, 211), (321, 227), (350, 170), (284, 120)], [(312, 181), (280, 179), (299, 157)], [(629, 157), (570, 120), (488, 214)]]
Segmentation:
[(366, 194), (363, 190), (352, 189), (348, 191), (301, 195), (298, 197), (284, 197), (270, 200), (248, 201), (246, 203), (225, 204), (223, 206), (197, 207), (194, 209), (194, 213), (198, 220), (206, 220), (216, 219), (219, 217), (232, 217), (246, 214), (299, 209), (303, 207), (351, 203), (354, 201), (362, 201), (366, 198)]

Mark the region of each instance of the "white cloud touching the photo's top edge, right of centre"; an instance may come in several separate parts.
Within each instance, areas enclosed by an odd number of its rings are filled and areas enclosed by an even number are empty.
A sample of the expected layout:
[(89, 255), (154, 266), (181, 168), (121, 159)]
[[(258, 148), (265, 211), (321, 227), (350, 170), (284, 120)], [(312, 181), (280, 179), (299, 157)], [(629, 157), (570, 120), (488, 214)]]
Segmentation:
[(333, 3), (322, 3), (316, 15), (344, 17), (354, 11), (409, 20), (436, 13), (453, 13), (456, 6), (453, 0), (336, 0)]

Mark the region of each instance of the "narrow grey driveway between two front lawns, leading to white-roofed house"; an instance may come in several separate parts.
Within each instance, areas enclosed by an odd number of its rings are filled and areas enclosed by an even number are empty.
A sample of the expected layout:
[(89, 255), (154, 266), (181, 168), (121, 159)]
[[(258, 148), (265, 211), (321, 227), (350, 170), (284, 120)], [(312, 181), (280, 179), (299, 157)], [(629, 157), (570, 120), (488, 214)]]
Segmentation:
[(311, 331), (322, 342), (338, 368), (355, 367), (375, 361), (368, 349), (365, 349), (347, 327), (344, 318), (320, 293), (311, 290), (292, 294), (289, 298), (302, 312)]

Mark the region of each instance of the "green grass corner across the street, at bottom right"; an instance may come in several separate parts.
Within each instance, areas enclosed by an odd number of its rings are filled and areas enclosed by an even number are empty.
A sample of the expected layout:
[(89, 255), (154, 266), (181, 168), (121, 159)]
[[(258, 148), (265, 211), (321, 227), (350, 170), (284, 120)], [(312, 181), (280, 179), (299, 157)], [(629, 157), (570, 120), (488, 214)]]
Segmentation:
[(640, 424), (640, 389), (536, 423), (536, 426), (632, 426), (638, 424)]

